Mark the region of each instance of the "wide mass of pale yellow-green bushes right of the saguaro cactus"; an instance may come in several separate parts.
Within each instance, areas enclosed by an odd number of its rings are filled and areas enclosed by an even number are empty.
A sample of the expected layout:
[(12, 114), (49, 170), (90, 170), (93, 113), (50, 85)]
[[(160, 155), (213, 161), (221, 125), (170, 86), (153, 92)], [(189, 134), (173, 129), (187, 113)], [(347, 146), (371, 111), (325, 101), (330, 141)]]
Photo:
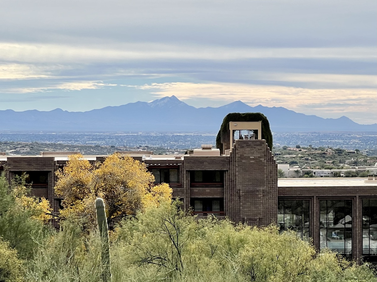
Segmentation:
[(127, 269), (124, 280), (375, 281), (366, 267), (328, 250), (316, 254), (293, 231), (195, 219), (177, 207), (148, 208), (116, 228), (112, 252), (117, 267)]

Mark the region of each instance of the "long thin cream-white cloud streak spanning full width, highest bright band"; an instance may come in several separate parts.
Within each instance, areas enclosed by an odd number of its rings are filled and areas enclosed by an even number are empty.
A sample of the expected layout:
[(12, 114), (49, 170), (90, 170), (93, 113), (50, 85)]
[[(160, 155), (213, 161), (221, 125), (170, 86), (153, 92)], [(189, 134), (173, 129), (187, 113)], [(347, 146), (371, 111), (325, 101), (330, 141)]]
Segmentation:
[(245, 60), (250, 58), (376, 59), (374, 47), (244, 48), (205, 44), (108, 43), (90, 45), (0, 42), (0, 60), (22, 63), (87, 63), (124, 60)]

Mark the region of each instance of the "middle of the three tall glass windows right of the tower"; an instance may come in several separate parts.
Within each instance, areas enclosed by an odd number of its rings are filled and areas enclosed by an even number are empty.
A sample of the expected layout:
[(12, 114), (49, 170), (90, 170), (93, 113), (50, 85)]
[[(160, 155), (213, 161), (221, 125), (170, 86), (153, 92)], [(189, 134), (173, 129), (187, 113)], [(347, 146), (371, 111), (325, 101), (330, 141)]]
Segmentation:
[(320, 248), (352, 255), (352, 200), (320, 200)]

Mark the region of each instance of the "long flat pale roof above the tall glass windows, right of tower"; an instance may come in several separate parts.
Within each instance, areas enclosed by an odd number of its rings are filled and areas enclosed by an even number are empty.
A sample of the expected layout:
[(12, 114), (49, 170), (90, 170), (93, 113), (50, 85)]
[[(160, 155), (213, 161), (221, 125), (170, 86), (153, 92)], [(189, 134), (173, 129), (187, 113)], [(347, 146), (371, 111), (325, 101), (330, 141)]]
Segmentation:
[(277, 187), (377, 186), (377, 180), (353, 177), (279, 178)]

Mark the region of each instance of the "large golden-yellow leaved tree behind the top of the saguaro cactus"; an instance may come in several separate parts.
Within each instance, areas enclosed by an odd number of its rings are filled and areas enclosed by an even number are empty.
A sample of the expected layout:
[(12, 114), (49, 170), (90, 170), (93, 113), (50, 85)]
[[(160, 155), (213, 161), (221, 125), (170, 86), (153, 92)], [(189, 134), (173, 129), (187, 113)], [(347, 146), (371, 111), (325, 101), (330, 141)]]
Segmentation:
[(105, 202), (108, 222), (172, 198), (169, 185), (153, 185), (154, 177), (146, 165), (130, 156), (113, 154), (104, 162), (91, 164), (80, 154), (71, 155), (56, 175), (55, 193), (64, 198), (63, 218), (75, 214), (93, 221), (97, 197)]

